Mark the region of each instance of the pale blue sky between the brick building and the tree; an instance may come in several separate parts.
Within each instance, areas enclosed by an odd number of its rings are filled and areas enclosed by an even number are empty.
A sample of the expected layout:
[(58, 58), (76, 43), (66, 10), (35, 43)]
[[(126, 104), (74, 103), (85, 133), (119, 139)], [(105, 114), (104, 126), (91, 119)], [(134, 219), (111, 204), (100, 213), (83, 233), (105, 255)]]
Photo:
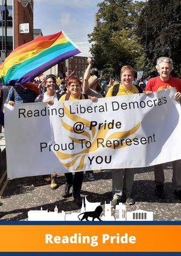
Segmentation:
[(81, 50), (80, 56), (90, 56), (87, 34), (94, 28), (94, 13), (101, 0), (35, 0), (34, 28), (43, 36), (63, 30)]

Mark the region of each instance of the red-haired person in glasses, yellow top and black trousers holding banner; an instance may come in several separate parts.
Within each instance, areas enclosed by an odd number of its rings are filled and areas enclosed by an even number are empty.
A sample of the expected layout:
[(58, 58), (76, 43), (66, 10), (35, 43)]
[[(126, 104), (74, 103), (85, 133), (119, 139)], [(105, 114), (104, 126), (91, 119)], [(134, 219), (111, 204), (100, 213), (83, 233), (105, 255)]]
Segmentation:
[[(81, 93), (81, 81), (78, 77), (71, 77), (68, 80), (68, 94), (64, 94), (60, 97), (60, 101), (62, 100), (80, 100), (80, 99), (91, 99), (92, 101), (97, 100), (97, 97), (87, 96), (86, 94)], [(72, 172), (65, 173), (65, 189), (63, 191), (62, 197), (69, 197), (70, 189), (72, 186), (72, 194), (75, 203), (77, 205), (81, 205), (82, 198), (80, 196), (81, 185), (83, 182), (83, 171), (78, 171), (74, 173)]]

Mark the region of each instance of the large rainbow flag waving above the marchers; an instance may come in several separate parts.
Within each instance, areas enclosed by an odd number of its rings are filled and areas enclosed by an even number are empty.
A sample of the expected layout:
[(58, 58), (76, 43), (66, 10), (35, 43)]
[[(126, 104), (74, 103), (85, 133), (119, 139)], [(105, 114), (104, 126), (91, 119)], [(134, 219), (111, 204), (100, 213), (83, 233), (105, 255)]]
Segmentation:
[(5, 85), (22, 85), (78, 53), (78, 47), (62, 31), (49, 36), (37, 36), (5, 58), (0, 65), (0, 77)]

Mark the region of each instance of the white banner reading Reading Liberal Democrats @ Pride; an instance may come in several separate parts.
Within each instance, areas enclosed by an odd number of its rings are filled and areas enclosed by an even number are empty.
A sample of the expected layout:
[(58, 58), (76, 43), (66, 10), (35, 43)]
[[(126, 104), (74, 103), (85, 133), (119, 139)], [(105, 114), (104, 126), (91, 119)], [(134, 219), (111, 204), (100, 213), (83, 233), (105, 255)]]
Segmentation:
[(6, 105), (8, 179), (181, 159), (174, 93)]

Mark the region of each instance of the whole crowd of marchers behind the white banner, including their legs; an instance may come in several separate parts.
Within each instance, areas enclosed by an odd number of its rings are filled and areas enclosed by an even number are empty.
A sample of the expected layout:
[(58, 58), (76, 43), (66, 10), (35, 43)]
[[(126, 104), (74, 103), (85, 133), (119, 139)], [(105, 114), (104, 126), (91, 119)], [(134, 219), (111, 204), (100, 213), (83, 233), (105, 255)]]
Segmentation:
[[(7, 97), (7, 103), (11, 106), (18, 103), (47, 102), (53, 105), (56, 101), (90, 99), (96, 101), (102, 97), (121, 96), (137, 93), (145, 93), (149, 96), (155, 91), (168, 88), (176, 88), (174, 99), (181, 102), (181, 80), (171, 77), (173, 61), (168, 57), (157, 59), (156, 69), (159, 74), (148, 81), (145, 79), (135, 80), (132, 67), (125, 65), (121, 68), (121, 80), (110, 78), (109, 83), (100, 79), (98, 71), (92, 70), (92, 59), (87, 59), (88, 66), (83, 79), (72, 76), (69, 80), (60, 79), (57, 83), (52, 74), (46, 76), (42, 81), (34, 81), (22, 86), (11, 87)], [(1, 113), (1, 120), (3, 120)], [(2, 122), (2, 121), (1, 121)], [(133, 205), (132, 188), (134, 183), (135, 169), (112, 169), (112, 208), (115, 208), (121, 200), (127, 205)], [(65, 173), (65, 187), (62, 197), (70, 197), (71, 187), (75, 203), (81, 205), (81, 185), (83, 182), (83, 171)], [(88, 180), (95, 180), (94, 171), (86, 171)], [(51, 183), (51, 189), (57, 188), (56, 173), (43, 178)], [(164, 168), (163, 165), (154, 166), (155, 194), (164, 199)], [(173, 162), (173, 187), (174, 195), (181, 200), (181, 160)]]

